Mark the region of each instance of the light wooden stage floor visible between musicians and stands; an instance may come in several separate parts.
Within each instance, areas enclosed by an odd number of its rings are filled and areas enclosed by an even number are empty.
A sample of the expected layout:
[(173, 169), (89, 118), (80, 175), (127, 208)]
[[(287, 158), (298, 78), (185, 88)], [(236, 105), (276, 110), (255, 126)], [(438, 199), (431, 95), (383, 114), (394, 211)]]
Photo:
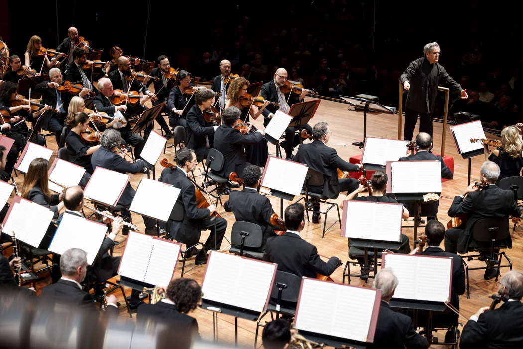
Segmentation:
[[(311, 99), (308, 97), (308, 99)], [(331, 139), (328, 143), (329, 146), (335, 148), (340, 156), (343, 157), (343, 159), (348, 160), (351, 155), (355, 155), (360, 153), (360, 149), (358, 147), (355, 147), (351, 145), (352, 142), (361, 141), (362, 140), (362, 134), (363, 134), (363, 114), (362, 112), (356, 112), (356, 111), (348, 111), (347, 105), (342, 103), (336, 103), (332, 102), (330, 100), (322, 100), (319, 109), (317, 110), (316, 115), (311, 120), (311, 125), (313, 125), (317, 121), (327, 121), (331, 127), (331, 130), (333, 131), (333, 134), (331, 135)], [(263, 120), (258, 119), (254, 121), (254, 125), (257, 127), (261, 127), (263, 129)], [(397, 138), (397, 123), (398, 123), (398, 116), (397, 115), (387, 115), (387, 114), (368, 114), (368, 121), (367, 121), (367, 136), (372, 137), (382, 137), (382, 138)], [(419, 122), (418, 122), (419, 125)], [(157, 126), (157, 125), (156, 125)], [(441, 143), (441, 135), (442, 135), (442, 123), (435, 122), (434, 123), (434, 137), (435, 137), (435, 149), (434, 151), (439, 153), (440, 151), (440, 143)], [(416, 132), (417, 132), (416, 127)], [(461, 190), (467, 186), (467, 161), (461, 159), (461, 156), (458, 155), (456, 151), (456, 147), (453, 144), (452, 137), (450, 135), (450, 132), (448, 130), (448, 127), (445, 130), (447, 132), (447, 141), (446, 141), (446, 154), (454, 156), (454, 179), (452, 181), (445, 182), (443, 184), (443, 192), (442, 192), (442, 198), (440, 200), (440, 206), (439, 206), (439, 214), (438, 219), (446, 224), (448, 221), (447, 216), (447, 210), (450, 207), (452, 203), (452, 199), (455, 195), (460, 194)], [(415, 133), (416, 134), (416, 133)], [(56, 144), (54, 143), (54, 137), (48, 138), (49, 147), (55, 150), (54, 155), (56, 154)], [(309, 141), (306, 141), (309, 142)], [(172, 144), (172, 140), (168, 141), (168, 144)], [(270, 153), (276, 153), (276, 149), (273, 145), (269, 144), (269, 152)], [(172, 149), (172, 148), (171, 148)], [(54, 156), (53, 155), (53, 156)], [(162, 155), (163, 156), (163, 155)], [(161, 158), (162, 158), (161, 156)], [(173, 150), (167, 150), (167, 153), (165, 154), (165, 157), (169, 160), (169, 162), (173, 162), (174, 157), (174, 151)], [(472, 160), (472, 182), (477, 181), (477, 178), (479, 177), (479, 168), (483, 162), (483, 156), (475, 157)], [(160, 176), (160, 173), (162, 172), (163, 167), (160, 165), (160, 161), (156, 164), (156, 175), (157, 178)], [(282, 174), (285, 175), (285, 174)], [(138, 186), (139, 181), (142, 178), (146, 178), (145, 174), (135, 174), (131, 176), (131, 184), (134, 188)], [(19, 175), (17, 178), (17, 183), (21, 185), (23, 181), (23, 176)], [(21, 188), (21, 186), (20, 186)], [(344, 199), (344, 195), (340, 195), (340, 197), (336, 200), (338, 204), (342, 205), (342, 201)], [(298, 199), (298, 198), (297, 198)], [(280, 211), (280, 200), (276, 198), (271, 198), (272, 205), (274, 206), (274, 209), (276, 212)], [(285, 206), (288, 206), (290, 202), (286, 201)], [(222, 215), (223, 218), (225, 218), (228, 221), (228, 228), (227, 232), (225, 233), (225, 237), (227, 239), (230, 238), (230, 230), (232, 227), (232, 224), (234, 223), (234, 217), (232, 213), (224, 212), (222, 207), (219, 207), (219, 213)], [(134, 215), (133, 215), (134, 216)], [(336, 213), (332, 212), (330, 217), (327, 221), (327, 227), (333, 223), (336, 218)], [(323, 218), (322, 218), (323, 219)], [(143, 221), (141, 217), (134, 217), (133, 218), (134, 223), (138, 224), (138, 226), (144, 230)], [(410, 223), (412, 224), (412, 222)], [(327, 258), (336, 255), (338, 256), (342, 262), (345, 264), (345, 262), (348, 260), (347, 255), (347, 240), (346, 238), (340, 237), (340, 230), (338, 228), (339, 226), (334, 226), (330, 230), (327, 231), (325, 235), (325, 239), (322, 239), (322, 228), (323, 224), (322, 221), (320, 224), (312, 224), (308, 223), (305, 225), (305, 229), (302, 231), (302, 238), (306, 241), (309, 241), (310, 243), (316, 245), (317, 250), (319, 254), (323, 257), (324, 260), (327, 260)], [(404, 229), (403, 233), (405, 233), (408, 237), (413, 239), (413, 229)], [(423, 231), (423, 229), (421, 230)], [(419, 233), (419, 231), (418, 231)], [(202, 233), (201, 241), (205, 241), (208, 234), (207, 232)], [(520, 261), (521, 256), (523, 253), (521, 252), (521, 247), (523, 246), (520, 229), (517, 228), (516, 232), (513, 233), (513, 248), (511, 250), (508, 250), (507, 253), (513, 262), (514, 268), (517, 270), (522, 269), (522, 263)], [(230, 240), (230, 239), (229, 239)], [(115, 255), (121, 255), (121, 252), (124, 247), (124, 237), (118, 236), (117, 241), (122, 242), (118, 246), (115, 247)], [(228, 241), (224, 239), (222, 244), (223, 250), (228, 250), (226, 247), (229, 247)], [(443, 247), (443, 246), (441, 246)], [(472, 266), (482, 266), (484, 265), (483, 262), (472, 262), (470, 263)], [(205, 270), (205, 266), (195, 266), (194, 260), (189, 261), (187, 263), (186, 273), (185, 277), (194, 278), (198, 282), (201, 282), (201, 279), (203, 277), (203, 272)], [(502, 274), (505, 271), (502, 271)], [(176, 270), (176, 277), (179, 277), (181, 273), (181, 263), (178, 263), (178, 267)], [(343, 273), (343, 265), (336, 269), (332, 277), (336, 282), (342, 282), (342, 273)], [(368, 284), (365, 284), (362, 282), (359, 278), (352, 278), (351, 279), (353, 285), (359, 285), (370, 287), (372, 284), (372, 280), (369, 281)], [(38, 287), (41, 288), (45, 285), (47, 285), (50, 282), (50, 279), (44, 280), (43, 282), (39, 283)], [(484, 280), (483, 279), (483, 271), (472, 271), (470, 273), (470, 299), (467, 299), (465, 295), (461, 296), (460, 300), (460, 306), (461, 306), (461, 313), (469, 318), (471, 314), (473, 314), (478, 308), (483, 306), (488, 306), (490, 304), (490, 296), (491, 294), (495, 293), (497, 290), (497, 285), (494, 282), (494, 280)], [(39, 290), (40, 292), (40, 290)], [(130, 289), (127, 289), (127, 294), (130, 294)], [(119, 293), (115, 292), (115, 295), (119, 297)], [(327, 300), (318, 300), (318, 301), (327, 301)], [(123, 303), (123, 301), (120, 299), (120, 302)], [(120, 313), (122, 317), (126, 317), (126, 311), (123, 307), (120, 308)], [(207, 310), (197, 309), (194, 312), (191, 313), (192, 316), (196, 317), (198, 319), (199, 323), (199, 329), (200, 334), (204, 339), (212, 340), (212, 314), (211, 312)], [(134, 316), (135, 317), (135, 316)], [(222, 341), (224, 343), (231, 343), (234, 344), (234, 319), (231, 316), (220, 314), (219, 316), (219, 341)], [(267, 317), (270, 319), (270, 317)], [(460, 322), (464, 324), (466, 321), (464, 319), (460, 319)], [(247, 320), (238, 320), (238, 344), (240, 345), (246, 345), (246, 346), (252, 346), (254, 341), (254, 333), (255, 333), (255, 322), (247, 321)], [(461, 326), (460, 326), (461, 329)], [(261, 334), (261, 332), (260, 332)], [(444, 332), (438, 332), (436, 333), (436, 336), (439, 337), (440, 341), (443, 340)], [(258, 346), (261, 344), (261, 336), (258, 339)], [(436, 345), (433, 347), (442, 347), (441, 345)]]

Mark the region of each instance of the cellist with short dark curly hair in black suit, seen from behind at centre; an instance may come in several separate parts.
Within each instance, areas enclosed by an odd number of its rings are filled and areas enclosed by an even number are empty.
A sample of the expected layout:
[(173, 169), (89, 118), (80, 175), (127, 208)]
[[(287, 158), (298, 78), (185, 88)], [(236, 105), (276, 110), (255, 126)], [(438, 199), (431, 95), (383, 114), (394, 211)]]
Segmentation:
[[(267, 239), (276, 236), (270, 224), (270, 217), (274, 209), (268, 197), (258, 194), (256, 188), (260, 183), (260, 168), (248, 164), (241, 174), (243, 190), (233, 190), (229, 193), (229, 201), (223, 204), (227, 212), (233, 212), (236, 221), (244, 221), (258, 224), (263, 232), (263, 245), (256, 252), (262, 252)], [(245, 247), (247, 250), (248, 248)]]

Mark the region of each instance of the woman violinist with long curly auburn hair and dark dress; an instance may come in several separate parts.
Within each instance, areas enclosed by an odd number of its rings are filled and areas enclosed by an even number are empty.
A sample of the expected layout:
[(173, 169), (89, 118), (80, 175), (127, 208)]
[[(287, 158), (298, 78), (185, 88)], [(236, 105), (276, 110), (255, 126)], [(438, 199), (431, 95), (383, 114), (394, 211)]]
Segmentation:
[[(260, 108), (257, 108), (253, 104), (249, 104), (244, 107), (240, 103), (240, 98), (247, 93), (247, 87), (249, 82), (243, 77), (235, 78), (229, 85), (227, 90), (227, 100), (225, 102), (225, 108), (234, 106), (240, 109), (242, 114), (240, 115), (240, 120), (244, 122), (249, 121), (249, 116), (253, 119), (257, 119), (260, 116), (261, 111), (269, 105), (269, 102), (265, 101), (264, 105)], [(263, 139), (260, 142), (253, 145), (245, 146), (245, 156), (247, 162), (257, 165), (259, 167), (265, 167), (267, 162), (267, 157), (269, 156), (269, 147), (267, 145), (267, 140)]]

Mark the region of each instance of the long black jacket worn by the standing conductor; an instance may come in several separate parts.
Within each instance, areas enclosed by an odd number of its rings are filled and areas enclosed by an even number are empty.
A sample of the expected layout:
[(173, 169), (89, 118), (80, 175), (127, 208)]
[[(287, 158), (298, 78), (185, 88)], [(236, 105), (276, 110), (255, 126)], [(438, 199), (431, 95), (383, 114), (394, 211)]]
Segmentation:
[(405, 106), (428, 114), (434, 111), (439, 84), (448, 85), (450, 89), (458, 92), (462, 90), (460, 84), (450, 77), (441, 64), (430, 64), (426, 57), (412, 61), (401, 74), (400, 80), (402, 84), (407, 80), (411, 84)]

